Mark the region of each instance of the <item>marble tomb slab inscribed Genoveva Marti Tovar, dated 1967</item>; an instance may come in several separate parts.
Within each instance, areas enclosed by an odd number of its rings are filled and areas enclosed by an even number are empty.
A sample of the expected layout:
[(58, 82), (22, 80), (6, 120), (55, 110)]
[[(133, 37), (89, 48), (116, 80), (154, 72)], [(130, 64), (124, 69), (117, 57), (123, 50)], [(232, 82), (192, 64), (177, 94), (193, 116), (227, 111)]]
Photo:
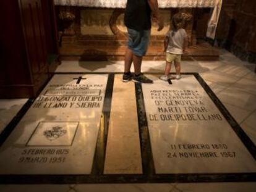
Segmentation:
[(155, 172), (255, 172), (254, 157), (194, 75), (142, 84)]

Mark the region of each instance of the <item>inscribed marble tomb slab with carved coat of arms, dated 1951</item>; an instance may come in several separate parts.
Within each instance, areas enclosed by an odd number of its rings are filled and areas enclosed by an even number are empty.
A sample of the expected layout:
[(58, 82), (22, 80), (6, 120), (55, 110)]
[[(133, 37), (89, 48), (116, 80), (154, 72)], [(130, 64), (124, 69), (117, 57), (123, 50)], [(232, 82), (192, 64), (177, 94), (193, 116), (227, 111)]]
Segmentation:
[(108, 75), (54, 75), (0, 148), (0, 174), (90, 174)]

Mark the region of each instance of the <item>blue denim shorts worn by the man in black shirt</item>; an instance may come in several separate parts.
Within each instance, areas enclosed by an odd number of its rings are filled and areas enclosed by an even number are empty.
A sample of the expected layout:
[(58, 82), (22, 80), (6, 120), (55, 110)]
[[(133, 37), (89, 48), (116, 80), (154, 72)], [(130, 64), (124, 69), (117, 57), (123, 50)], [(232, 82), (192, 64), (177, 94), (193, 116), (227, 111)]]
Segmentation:
[(137, 31), (131, 28), (128, 30), (128, 48), (134, 52), (135, 56), (145, 56), (150, 41), (150, 30)]

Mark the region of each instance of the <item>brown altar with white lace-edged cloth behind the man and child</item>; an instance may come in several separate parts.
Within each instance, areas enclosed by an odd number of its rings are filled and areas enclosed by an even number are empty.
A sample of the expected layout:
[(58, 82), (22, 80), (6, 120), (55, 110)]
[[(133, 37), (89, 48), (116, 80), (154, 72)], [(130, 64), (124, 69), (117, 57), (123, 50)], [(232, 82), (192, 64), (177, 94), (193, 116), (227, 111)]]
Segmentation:
[[(124, 9), (127, 0), (55, 0), (62, 59), (82, 61), (123, 60), (127, 31)], [(192, 15), (187, 22), (189, 51), (183, 59), (216, 60), (219, 53), (205, 38), (215, 38), (222, 0), (159, 0), (164, 28), (152, 23), (145, 59), (163, 60), (163, 40), (177, 12)]]

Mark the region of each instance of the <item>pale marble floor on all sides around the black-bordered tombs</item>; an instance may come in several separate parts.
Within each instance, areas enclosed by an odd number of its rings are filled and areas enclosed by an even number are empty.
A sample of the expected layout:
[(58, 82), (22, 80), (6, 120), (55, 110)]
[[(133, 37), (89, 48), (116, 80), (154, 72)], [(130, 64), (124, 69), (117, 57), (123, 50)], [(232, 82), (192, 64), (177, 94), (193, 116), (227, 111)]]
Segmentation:
[[(220, 61), (183, 61), (182, 72), (198, 72), (256, 144), (255, 64), (237, 59), (225, 50)], [(164, 61), (145, 61), (143, 72), (163, 72)], [(64, 61), (57, 72), (122, 72), (122, 61)], [(173, 69), (174, 70), (174, 69)], [(174, 71), (173, 71), (174, 72)], [(27, 99), (0, 99), (0, 132)], [(151, 183), (90, 185), (0, 185), (0, 191), (255, 191), (256, 183)]]

